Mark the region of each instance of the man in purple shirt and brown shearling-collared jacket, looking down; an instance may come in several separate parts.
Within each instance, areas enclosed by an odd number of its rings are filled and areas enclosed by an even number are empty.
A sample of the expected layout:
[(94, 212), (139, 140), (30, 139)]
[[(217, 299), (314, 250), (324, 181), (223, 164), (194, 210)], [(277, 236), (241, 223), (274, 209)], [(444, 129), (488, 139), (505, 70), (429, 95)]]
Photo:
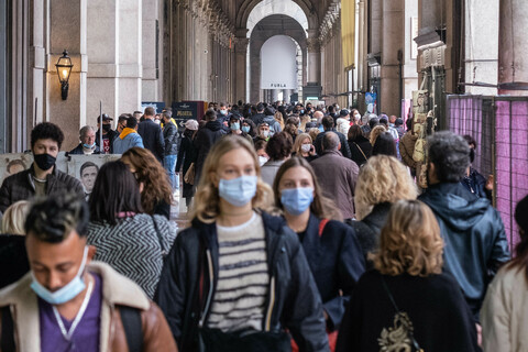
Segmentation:
[(25, 222), (31, 273), (0, 290), (2, 351), (178, 351), (143, 290), (92, 261), (88, 218), (77, 195), (32, 205)]

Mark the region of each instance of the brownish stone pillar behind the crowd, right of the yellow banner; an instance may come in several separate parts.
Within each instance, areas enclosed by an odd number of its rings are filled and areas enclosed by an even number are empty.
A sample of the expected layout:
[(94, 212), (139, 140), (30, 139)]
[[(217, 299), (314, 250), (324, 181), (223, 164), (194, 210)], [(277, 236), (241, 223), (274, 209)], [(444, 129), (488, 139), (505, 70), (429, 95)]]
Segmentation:
[(382, 101), (381, 110), (399, 113), (398, 51), (404, 51), (404, 0), (383, 0)]

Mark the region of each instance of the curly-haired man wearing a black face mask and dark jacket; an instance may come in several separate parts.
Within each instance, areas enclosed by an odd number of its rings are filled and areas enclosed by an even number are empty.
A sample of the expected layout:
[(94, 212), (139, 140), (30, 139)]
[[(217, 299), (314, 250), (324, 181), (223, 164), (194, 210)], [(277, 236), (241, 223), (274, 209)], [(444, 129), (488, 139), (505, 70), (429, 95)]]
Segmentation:
[(31, 131), (31, 151), (34, 162), (26, 170), (11, 175), (0, 188), (0, 211), (19, 200), (35, 196), (48, 196), (61, 191), (76, 193), (84, 197), (80, 182), (55, 167), (64, 134), (51, 123), (38, 123)]

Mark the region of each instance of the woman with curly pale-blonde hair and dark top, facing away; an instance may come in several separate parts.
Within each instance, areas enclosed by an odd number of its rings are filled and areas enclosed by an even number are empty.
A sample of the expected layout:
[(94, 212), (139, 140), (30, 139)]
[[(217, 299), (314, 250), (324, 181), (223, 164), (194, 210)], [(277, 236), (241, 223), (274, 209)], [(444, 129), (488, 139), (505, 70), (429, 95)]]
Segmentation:
[[(360, 169), (355, 184), (355, 230), (365, 260), (380, 238), (391, 205), (400, 199), (416, 199), (418, 190), (407, 168), (396, 157), (371, 156)], [(367, 261), (367, 266), (371, 263)]]

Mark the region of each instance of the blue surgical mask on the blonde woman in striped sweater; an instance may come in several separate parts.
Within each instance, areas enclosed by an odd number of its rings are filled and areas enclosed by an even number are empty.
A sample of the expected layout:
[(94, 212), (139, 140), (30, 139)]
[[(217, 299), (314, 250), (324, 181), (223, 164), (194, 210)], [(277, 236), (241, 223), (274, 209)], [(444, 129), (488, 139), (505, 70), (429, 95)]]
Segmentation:
[(218, 193), (220, 198), (234, 207), (243, 207), (256, 195), (256, 176), (241, 176), (233, 179), (220, 179)]

